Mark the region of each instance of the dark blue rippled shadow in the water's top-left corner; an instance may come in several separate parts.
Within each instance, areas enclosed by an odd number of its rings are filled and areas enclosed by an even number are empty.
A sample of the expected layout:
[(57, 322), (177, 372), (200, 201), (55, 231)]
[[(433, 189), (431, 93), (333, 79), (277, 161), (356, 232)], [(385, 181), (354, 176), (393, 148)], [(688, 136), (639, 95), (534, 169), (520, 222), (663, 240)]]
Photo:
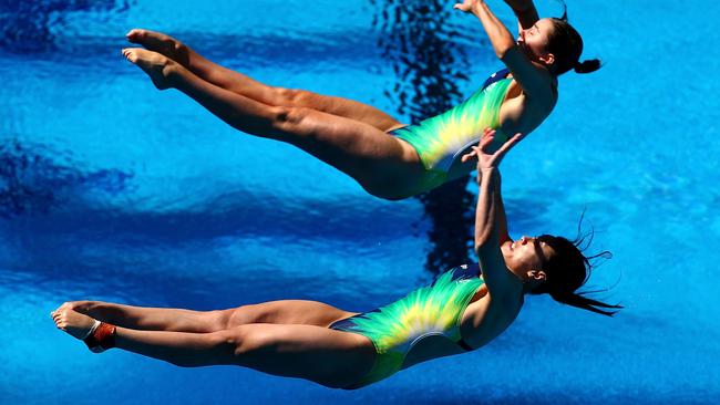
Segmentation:
[(13, 53), (54, 50), (53, 30), (74, 11), (124, 12), (127, 0), (0, 0), (0, 49)]

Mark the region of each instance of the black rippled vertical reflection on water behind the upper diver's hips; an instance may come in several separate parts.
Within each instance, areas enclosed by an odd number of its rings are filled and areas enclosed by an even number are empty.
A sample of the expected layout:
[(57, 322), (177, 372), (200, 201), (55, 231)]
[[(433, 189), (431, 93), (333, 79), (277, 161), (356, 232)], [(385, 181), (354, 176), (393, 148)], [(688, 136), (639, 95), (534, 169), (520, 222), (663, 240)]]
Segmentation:
[[(385, 95), (399, 100), (399, 112), (416, 123), (462, 101), (459, 83), (469, 80), (463, 72), (470, 62), (459, 45), (466, 34), (448, 22), (452, 7), (442, 0), (370, 2), (376, 8), (373, 25), (381, 33), (379, 46), (398, 80)], [(474, 196), (466, 190), (467, 179), (418, 197), (432, 222), (425, 267), (433, 272), (470, 261)]]

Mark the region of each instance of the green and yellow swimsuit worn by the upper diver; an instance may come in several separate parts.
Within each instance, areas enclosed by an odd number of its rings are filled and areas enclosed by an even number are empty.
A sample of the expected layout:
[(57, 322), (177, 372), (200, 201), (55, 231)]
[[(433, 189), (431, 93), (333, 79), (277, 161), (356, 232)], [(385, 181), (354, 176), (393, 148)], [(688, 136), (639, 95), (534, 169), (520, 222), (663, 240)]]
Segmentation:
[[(446, 175), (455, 159), (477, 144), (485, 128), (500, 127), (500, 107), (513, 81), (506, 77), (508, 73), (506, 69), (494, 73), (462, 104), (392, 134), (415, 148), (426, 170)], [(495, 137), (507, 139), (500, 131)]]

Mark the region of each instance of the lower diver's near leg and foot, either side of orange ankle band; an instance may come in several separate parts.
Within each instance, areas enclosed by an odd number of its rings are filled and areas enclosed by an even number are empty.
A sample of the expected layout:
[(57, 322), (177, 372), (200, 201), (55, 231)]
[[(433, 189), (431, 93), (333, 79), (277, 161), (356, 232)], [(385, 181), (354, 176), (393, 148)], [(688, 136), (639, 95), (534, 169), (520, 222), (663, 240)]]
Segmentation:
[[(53, 312), (58, 329), (82, 339), (94, 320), (70, 309)], [(346, 387), (364, 376), (374, 349), (364, 336), (309, 325), (249, 324), (213, 333), (116, 328), (115, 347), (178, 366), (240, 365), (264, 373)]]

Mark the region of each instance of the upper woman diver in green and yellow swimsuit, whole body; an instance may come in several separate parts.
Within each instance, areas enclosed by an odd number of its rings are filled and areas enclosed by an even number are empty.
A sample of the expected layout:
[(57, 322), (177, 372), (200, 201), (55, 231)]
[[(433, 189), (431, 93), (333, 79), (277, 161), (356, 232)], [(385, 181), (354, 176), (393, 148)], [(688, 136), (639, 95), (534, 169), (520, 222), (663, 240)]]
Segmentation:
[[(124, 49), (123, 54), (157, 89), (179, 90), (244, 133), (292, 144), (377, 197), (402, 199), (473, 170), (462, 156), (484, 128), (534, 131), (555, 106), (557, 76), (599, 66), (597, 61), (578, 62), (583, 40), (565, 15), (539, 19), (531, 0), (505, 2), (520, 22), (516, 39), (484, 1), (465, 0), (455, 8), (480, 19), (507, 73), (457, 107), (412, 126), (354, 101), (259, 83), (158, 32), (130, 31), (127, 40), (144, 49)], [(498, 135), (494, 147), (504, 141)]]

